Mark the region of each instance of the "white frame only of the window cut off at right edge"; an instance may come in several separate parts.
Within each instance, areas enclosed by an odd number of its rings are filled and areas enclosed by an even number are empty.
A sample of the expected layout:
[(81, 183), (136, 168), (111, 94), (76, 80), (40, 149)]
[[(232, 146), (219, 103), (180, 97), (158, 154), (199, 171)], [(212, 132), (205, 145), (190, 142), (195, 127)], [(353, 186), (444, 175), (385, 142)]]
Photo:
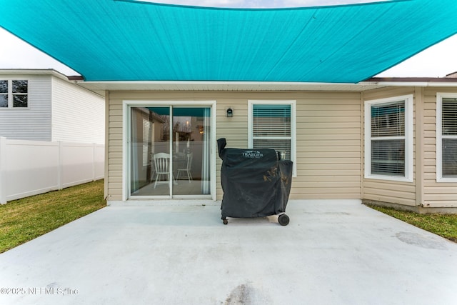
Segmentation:
[[(443, 99), (457, 99), (457, 93), (436, 93), (436, 182), (457, 182), (457, 177), (443, 177)], [(446, 136), (454, 138), (455, 136)]]

